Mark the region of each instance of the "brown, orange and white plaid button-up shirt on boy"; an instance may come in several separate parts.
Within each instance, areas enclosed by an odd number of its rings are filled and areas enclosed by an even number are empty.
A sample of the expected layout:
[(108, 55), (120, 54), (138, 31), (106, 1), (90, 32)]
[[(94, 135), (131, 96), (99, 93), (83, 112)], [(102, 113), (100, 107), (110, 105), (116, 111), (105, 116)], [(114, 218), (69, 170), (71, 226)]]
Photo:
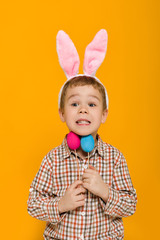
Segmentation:
[[(105, 203), (86, 193), (85, 205), (76, 210), (59, 214), (58, 202), (67, 188), (78, 179), (74, 151), (63, 143), (52, 149), (43, 159), (35, 176), (28, 199), (28, 212), (32, 217), (47, 221), (45, 240), (103, 240), (123, 239), (122, 217), (136, 210), (137, 196), (123, 154), (104, 143), (99, 135), (97, 146), (90, 154), (93, 165), (109, 186), (109, 198)], [(79, 160), (80, 175), (87, 168), (88, 159)]]

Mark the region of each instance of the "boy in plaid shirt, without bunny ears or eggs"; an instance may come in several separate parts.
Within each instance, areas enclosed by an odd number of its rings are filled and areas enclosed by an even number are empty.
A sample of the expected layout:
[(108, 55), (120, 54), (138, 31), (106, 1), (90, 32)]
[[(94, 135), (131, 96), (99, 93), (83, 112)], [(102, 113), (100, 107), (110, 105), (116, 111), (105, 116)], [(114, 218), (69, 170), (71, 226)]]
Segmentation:
[(89, 168), (86, 153), (81, 147), (72, 151), (66, 137), (44, 157), (30, 187), (28, 212), (47, 221), (45, 240), (124, 237), (122, 217), (135, 212), (137, 196), (123, 154), (97, 134), (107, 114), (106, 90), (95, 77), (79, 75), (64, 84), (60, 118), (78, 136), (91, 134), (95, 147)]

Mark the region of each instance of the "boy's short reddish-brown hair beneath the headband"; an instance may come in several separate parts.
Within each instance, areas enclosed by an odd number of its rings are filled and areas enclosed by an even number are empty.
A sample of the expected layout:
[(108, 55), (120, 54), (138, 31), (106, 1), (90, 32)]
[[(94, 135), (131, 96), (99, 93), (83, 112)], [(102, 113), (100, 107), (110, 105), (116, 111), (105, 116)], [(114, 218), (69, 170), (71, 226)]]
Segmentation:
[(66, 82), (66, 84), (63, 87), (62, 94), (61, 94), (61, 99), (60, 99), (60, 109), (61, 111), (64, 110), (64, 104), (65, 104), (65, 96), (67, 93), (67, 89), (71, 87), (77, 87), (77, 86), (86, 86), (86, 85), (91, 85), (95, 89), (97, 89), (101, 96), (102, 96), (102, 101), (103, 101), (103, 110), (107, 109), (106, 105), (106, 94), (105, 94), (105, 89), (100, 84), (98, 81), (95, 80), (95, 78), (90, 77), (90, 76), (77, 76), (73, 77), (71, 80)]

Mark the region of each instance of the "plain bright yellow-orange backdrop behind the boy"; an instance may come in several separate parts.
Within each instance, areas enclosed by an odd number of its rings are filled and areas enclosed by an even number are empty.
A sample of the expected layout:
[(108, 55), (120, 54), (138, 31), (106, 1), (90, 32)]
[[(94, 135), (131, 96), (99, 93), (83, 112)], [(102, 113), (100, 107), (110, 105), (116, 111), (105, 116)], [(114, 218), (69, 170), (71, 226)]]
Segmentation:
[(46, 153), (67, 133), (57, 99), (66, 80), (56, 52), (63, 29), (80, 55), (101, 28), (108, 50), (96, 76), (109, 95), (99, 133), (127, 159), (137, 190), (125, 240), (159, 236), (160, 2), (1, 1), (1, 239), (40, 240), (45, 223), (27, 213), (29, 186)]

